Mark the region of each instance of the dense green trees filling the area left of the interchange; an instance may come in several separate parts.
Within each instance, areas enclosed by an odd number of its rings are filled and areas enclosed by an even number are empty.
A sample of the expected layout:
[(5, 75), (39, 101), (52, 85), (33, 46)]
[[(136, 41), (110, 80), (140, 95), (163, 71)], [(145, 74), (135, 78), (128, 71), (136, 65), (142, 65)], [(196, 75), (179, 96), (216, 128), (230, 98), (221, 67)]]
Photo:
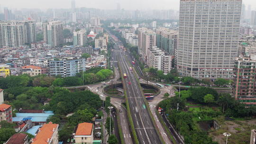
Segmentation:
[[(50, 117), (48, 122), (64, 123), (59, 131), (59, 139), (66, 142), (72, 137), (75, 126), (82, 122), (91, 122), (92, 117), (102, 115), (97, 111), (102, 106), (102, 100), (99, 95), (89, 90), (72, 92), (61, 87), (105, 81), (112, 75), (112, 71), (103, 68), (92, 68), (86, 72), (77, 73), (76, 76), (65, 78), (46, 75), (34, 77), (27, 74), (11, 75), (0, 78), (0, 89), (4, 89), (5, 103), (15, 109), (14, 116), (20, 108), (53, 110), (55, 115)], [(110, 100), (106, 99), (106, 105), (110, 105)], [(1, 123), (0, 125), (2, 125), (1, 144), (15, 134), (15, 130), (13, 126)]]

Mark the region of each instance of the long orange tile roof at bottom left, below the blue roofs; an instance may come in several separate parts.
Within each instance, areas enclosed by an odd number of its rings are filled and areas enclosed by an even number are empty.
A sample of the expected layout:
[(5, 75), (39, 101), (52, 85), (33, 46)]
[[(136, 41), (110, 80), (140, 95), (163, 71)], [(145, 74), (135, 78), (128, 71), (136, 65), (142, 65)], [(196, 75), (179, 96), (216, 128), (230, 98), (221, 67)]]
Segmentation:
[(39, 128), (40, 131), (37, 133), (36, 137), (33, 138), (31, 144), (48, 144), (48, 138), (51, 139), (54, 133), (53, 130), (57, 129), (58, 126), (58, 124), (53, 124), (52, 122), (43, 125), (41, 128)]

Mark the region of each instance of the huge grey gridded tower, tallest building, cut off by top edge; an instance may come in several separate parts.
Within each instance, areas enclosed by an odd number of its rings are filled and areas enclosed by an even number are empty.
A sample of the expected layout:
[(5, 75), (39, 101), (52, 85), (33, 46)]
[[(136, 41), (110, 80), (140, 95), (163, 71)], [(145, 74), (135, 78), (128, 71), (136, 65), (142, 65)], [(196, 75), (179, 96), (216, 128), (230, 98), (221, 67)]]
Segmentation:
[(180, 0), (179, 74), (232, 78), (241, 5), (242, 0)]

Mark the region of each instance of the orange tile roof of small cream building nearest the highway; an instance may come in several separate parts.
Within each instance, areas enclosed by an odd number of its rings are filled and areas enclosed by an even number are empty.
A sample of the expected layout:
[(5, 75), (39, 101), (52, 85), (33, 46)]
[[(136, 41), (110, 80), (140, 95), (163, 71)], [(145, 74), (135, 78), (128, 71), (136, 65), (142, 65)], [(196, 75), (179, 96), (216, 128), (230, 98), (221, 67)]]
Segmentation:
[(91, 135), (92, 126), (92, 123), (78, 124), (75, 135)]

